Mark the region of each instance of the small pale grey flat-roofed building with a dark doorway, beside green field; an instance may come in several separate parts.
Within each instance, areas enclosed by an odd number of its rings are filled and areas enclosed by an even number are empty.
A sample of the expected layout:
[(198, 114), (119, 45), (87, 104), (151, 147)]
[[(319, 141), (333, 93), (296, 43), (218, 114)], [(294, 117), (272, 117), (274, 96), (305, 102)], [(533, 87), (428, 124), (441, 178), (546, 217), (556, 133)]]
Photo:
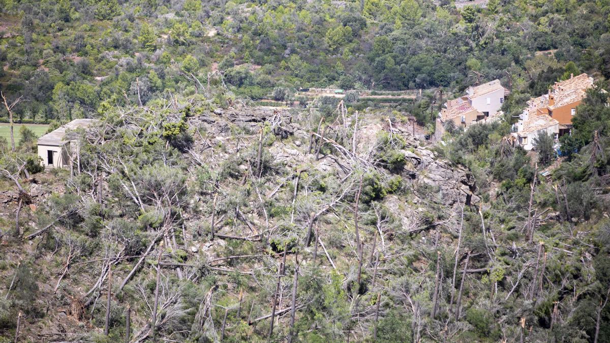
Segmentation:
[(66, 132), (78, 128), (87, 128), (97, 123), (96, 119), (75, 119), (38, 139), (38, 156), (47, 168), (62, 168), (70, 165), (70, 139)]

